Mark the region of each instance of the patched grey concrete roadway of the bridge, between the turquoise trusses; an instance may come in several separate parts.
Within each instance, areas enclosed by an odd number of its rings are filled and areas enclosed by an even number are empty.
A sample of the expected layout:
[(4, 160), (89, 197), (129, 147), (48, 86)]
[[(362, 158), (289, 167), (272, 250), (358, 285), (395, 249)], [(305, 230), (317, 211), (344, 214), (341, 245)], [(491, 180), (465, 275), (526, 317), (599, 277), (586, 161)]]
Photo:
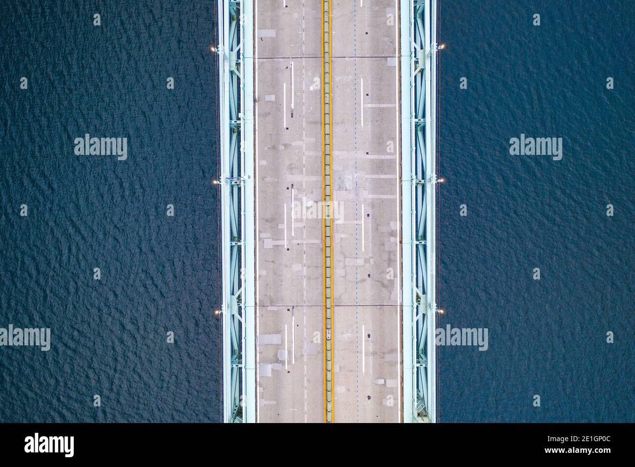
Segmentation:
[[(336, 422), (401, 420), (398, 8), (332, 6)], [(321, 0), (255, 7), (257, 416), (324, 421)]]

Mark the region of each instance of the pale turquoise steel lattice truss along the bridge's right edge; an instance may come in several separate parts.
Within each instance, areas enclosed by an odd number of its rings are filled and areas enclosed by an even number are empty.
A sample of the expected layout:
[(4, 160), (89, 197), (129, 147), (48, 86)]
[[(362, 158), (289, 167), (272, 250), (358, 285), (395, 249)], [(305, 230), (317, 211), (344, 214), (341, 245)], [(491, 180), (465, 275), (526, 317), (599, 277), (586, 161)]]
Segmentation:
[[(410, 76), (410, 200), (411, 219), (408, 240), (410, 251), (404, 250), (404, 266), (408, 266), (411, 287), (404, 288), (404, 353), (412, 351), (412, 367), (404, 368), (404, 385), (411, 399), (404, 398), (404, 420), (436, 421), (436, 0), (410, 1), (410, 27), (406, 31), (410, 44), (408, 64)], [(403, 44), (407, 44), (402, 38)], [(405, 51), (404, 51), (405, 52)], [(405, 72), (405, 71), (404, 71)], [(403, 101), (403, 97), (402, 97)], [(402, 105), (404, 102), (402, 102)], [(407, 109), (408, 105), (403, 108)], [(407, 130), (406, 130), (407, 131)], [(405, 195), (405, 193), (404, 193)], [(406, 213), (404, 213), (406, 217)], [(408, 257), (410, 256), (410, 257)], [(405, 275), (405, 272), (404, 272)], [(407, 278), (404, 277), (404, 281)], [(406, 296), (406, 294), (411, 294)], [(411, 310), (411, 314), (408, 311)], [(411, 326), (411, 329), (408, 329)], [(408, 340), (406, 340), (408, 339)], [(411, 339), (411, 341), (409, 341)], [(406, 361), (404, 360), (404, 363)], [(410, 378), (408, 379), (408, 376)], [(411, 401), (412, 407), (407, 407)], [(412, 413), (410, 414), (410, 410)]]

